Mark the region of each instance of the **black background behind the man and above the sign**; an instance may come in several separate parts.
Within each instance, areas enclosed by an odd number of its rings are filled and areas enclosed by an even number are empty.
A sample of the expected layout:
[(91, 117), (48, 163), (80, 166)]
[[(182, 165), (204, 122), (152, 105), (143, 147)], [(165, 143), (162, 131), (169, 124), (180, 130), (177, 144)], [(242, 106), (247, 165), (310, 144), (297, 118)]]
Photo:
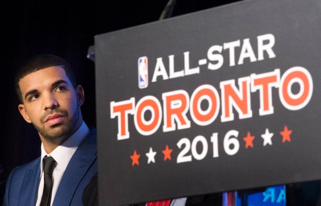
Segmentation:
[[(172, 16), (183, 15), (239, 0), (177, 0)], [(40, 155), (40, 139), (18, 112), (14, 72), (36, 54), (62, 56), (76, 70), (85, 89), (82, 107), (87, 125), (96, 126), (95, 64), (86, 56), (94, 36), (157, 21), (167, 0), (12, 1), (2, 4), (2, 128), (0, 139), (0, 203), (10, 171)], [(166, 35), (166, 34), (164, 34)], [(2, 168), (0, 167), (0, 173)]]

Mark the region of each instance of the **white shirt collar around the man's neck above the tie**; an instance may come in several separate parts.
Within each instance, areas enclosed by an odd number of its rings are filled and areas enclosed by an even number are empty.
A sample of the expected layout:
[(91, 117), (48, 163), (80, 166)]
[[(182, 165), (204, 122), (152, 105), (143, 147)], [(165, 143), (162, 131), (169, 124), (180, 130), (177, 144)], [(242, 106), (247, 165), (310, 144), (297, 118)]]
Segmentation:
[(56, 160), (57, 165), (60, 167), (66, 168), (73, 153), (78, 148), (79, 144), (83, 141), (83, 139), (88, 135), (89, 128), (86, 123), (83, 121), (82, 125), (78, 128), (78, 130), (73, 133), (68, 139), (66, 139), (61, 145), (56, 147), (50, 154), (46, 152), (41, 143), (41, 164), (40, 164), (40, 174), (42, 174), (43, 162), (42, 159), (44, 156), (51, 156)]

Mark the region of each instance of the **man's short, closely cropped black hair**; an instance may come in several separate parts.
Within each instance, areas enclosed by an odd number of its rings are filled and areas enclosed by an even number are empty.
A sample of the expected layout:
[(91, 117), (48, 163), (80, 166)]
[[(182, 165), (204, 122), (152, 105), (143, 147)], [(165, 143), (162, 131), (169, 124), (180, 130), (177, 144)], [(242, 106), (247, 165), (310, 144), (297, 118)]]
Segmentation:
[(51, 66), (61, 66), (65, 72), (66, 75), (68, 77), (68, 79), (70, 80), (71, 84), (73, 87), (77, 86), (76, 83), (76, 78), (74, 75), (74, 72), (70, 66), (70, 64), (64, 60), (62, 57), (59, 57), (57, 55), (52, 55), (52, 54), (42, 54), (42, 55), (36, 55), (28, 60), (26, 60), (22, 66), (20, 66), (20, 68), (17, 70), (16, 75), (15, 75), (15, 90), (17, 93), (17, 96), (21, 102), (21, 104), (23, 104), (23, 98), (22, 98), (22, 93), (21, 93), (21, 89), (19, 86), (19, 82), (22, 78), (24, 78), (24, 76), (39, 71), (41, 69), (44, 68), (48, 68)]

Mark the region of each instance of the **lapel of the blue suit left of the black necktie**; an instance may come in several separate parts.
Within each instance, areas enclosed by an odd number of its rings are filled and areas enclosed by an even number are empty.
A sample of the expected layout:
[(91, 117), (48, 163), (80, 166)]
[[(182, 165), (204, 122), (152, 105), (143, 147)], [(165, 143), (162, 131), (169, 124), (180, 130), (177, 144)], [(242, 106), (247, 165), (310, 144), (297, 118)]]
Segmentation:
[(31, 203), (30, 205), (36, 204), (39, 177), (40, 158), (34, 161), (24, 172), (22, 186), (19, 194), (19, 205), (25, 205), (26, 202)]

